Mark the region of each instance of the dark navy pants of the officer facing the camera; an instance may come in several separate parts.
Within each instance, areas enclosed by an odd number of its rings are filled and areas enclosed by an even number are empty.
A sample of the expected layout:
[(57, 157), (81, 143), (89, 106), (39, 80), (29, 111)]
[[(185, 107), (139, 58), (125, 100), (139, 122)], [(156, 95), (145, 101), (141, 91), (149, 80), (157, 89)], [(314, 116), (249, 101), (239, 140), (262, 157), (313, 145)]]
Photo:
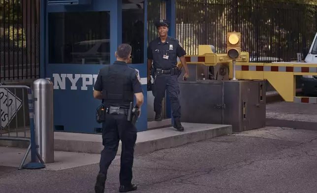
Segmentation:
[(158, 114), (162, 111), (162, 100), (165, 97), (165, 91), (170, 98), (172, 106), (172, 116), (175, 121), (181, 118), (181, 105), (179, 103), (179, 86), (177, 75), (160, 74), (156, 77), (155, 84), (152, 86), (154, 98), (154, 111)]

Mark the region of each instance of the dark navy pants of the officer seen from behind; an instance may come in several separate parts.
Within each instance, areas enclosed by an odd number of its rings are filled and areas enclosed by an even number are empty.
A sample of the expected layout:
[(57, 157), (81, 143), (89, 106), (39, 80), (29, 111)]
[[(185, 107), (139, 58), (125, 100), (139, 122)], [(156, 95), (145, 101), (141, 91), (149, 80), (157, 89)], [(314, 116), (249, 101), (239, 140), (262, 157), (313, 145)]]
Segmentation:
[(136, 129), (131, 122), (127, 121), (126, 115), (106, 115), (106, 120), (102, 123), (102, 145), (104, 149), (101, 152), (99, 172), (107, 175), (107, 170), (116, 157), (119, 140), (121, 140), (120, 185), (123, 186), (131, 184), (136, 135)]

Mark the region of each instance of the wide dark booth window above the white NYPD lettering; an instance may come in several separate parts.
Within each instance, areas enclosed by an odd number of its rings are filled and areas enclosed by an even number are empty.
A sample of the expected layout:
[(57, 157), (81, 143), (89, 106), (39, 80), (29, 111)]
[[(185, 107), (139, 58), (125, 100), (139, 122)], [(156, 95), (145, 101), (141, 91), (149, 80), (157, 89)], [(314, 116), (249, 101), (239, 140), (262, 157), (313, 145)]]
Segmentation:
[(48, 15), (49, 64), (110, 64), (110, 12)]

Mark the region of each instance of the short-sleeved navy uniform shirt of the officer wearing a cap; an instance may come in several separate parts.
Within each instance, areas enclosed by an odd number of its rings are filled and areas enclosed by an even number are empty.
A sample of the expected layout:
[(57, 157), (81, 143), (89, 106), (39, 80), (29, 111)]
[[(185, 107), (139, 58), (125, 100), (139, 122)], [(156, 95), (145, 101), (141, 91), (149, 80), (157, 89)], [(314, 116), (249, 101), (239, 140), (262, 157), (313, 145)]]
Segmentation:
[(164, 43), (160, 37), (151, 41), (147, 52), (148, 59), (153, 60), (153, 67), (164, 70), (176, 67), (177, 57), (186, 55), (182, 44), (170, 36), (167, 36)]

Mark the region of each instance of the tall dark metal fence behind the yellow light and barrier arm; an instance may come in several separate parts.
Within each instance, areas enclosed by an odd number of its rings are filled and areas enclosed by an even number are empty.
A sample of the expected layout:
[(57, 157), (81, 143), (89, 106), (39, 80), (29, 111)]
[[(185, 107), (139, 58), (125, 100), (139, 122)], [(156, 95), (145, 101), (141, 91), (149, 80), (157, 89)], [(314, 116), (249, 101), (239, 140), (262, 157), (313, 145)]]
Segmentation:
[(242, 34), (254, 62), (296, 61), (317, 32), (317, 6), (269, 0), (177, 0), (177, 38), (188, 55), (199, 44), (225, 53), (226, 32)]

